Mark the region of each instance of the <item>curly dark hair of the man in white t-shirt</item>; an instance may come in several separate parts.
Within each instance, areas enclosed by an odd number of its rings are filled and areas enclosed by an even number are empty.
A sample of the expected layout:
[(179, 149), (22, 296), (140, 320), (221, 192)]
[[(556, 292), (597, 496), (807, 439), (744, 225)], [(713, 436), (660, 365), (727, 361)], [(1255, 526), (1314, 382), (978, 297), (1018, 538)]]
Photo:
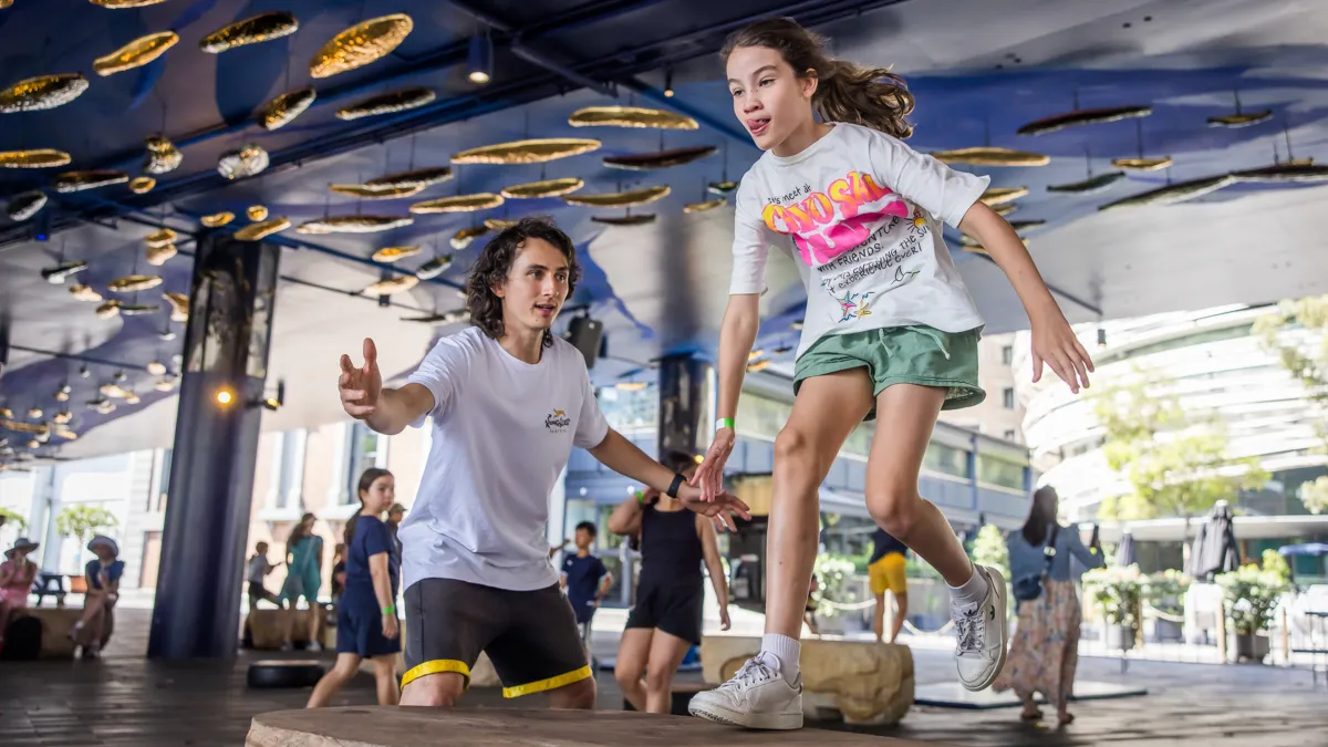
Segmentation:
[[(466, 278), (466, 308), (470, 310), (470, 322), (495, 340), (503, 335), (503, 323), (502, 299), (494, 294), (493, 287), (501, 286), (507, 279), (511, 265), (527, 239), (543, 239), (567, 258), (567, 298), (563, 303), (571, 299), (576, 282), (580, 280), (576, 246), (552, 218), (522, 218), (515, 226), (503, 229), (485, 245)], [(552, 344), (554, 335), (546, 330), (544, 347)]]

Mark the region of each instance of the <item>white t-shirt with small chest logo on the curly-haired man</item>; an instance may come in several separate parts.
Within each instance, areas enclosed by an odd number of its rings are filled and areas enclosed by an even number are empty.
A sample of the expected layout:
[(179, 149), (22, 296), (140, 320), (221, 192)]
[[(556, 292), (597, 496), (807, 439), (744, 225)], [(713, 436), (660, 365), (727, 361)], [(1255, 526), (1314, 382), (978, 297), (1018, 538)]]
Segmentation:
[(572, 447), (608, 435), (584, 356), (555, 338), (533, 366), (470, 327), (440, 340), (409, 380), (433, 392), (434, 431), (397, 532), (402, 587), (421, 578), (515, 591), (556, 584), (548, 494)]

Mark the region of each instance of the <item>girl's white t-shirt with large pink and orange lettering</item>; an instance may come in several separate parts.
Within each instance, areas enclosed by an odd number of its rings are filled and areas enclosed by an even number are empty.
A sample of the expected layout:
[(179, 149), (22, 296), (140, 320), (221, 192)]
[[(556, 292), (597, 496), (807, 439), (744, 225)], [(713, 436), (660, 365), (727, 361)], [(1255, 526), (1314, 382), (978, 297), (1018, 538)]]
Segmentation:
[(766, 152), (738, 187), (729, 292), (765, 292), (772, 245), (793, 257), (807, 291), (798, 356), (825, 335), (980, 327), (939, 222), (957, 227), (989, 181), (861, 125)]

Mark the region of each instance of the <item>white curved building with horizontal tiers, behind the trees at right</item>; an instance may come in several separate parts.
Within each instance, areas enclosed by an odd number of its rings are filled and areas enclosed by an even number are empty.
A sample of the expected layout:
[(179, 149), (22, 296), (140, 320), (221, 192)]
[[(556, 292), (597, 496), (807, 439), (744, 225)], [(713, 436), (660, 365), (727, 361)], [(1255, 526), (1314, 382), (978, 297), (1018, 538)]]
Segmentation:
[[(1145, 376), (1158, 396), (1177, 397), (1187, 413), (1212, 417), (1227, 435), (1219, 468), (1239, 473), (1252, 459), (1271, 475), (1258, 490), (1236, 501), (1236, 536), (1246, 557), (1266, 548), (1328, 537), (1328, 516), (1312, 516), (1299, 500), (1303, 484), (1328, 473), (1328, 443), (1323, 408), (1280, 364), (1275, 352), (1252, 332), (1272, 307), (1227, 306), (1108, 322), (1080, 330), (1097, 372), (1093, 388), (1080, 396), (1053, 374), (1031, 383), (1028, 334), (1017, 335), (1016, 388), (1025, 403), (1024, 433), (1038, 484), (1054, 485), (1065, 518), (1098, 521), (1102, 502), (1130, 492), (1126, 479), (1110, 469), (1104, 453), (1104, 429), (1094, 412), (1094, 389)], [(1303, 330), (1280, 334), (1283, 344), (1317, 344)], [(1162, 437), (1166, 437), (1163, 433)], [(1122, 526), (1104, 522), (1102, 538), (1113, 541), (1129, 529), (1137, 541), (1154, 545), (1141, 562), (1179, 568), (1181, 542), (1197, 532), (1183, 517), (1158, 517)], [(1321, 576), (1317, 558), (1297, 560), (1301, 576)]]

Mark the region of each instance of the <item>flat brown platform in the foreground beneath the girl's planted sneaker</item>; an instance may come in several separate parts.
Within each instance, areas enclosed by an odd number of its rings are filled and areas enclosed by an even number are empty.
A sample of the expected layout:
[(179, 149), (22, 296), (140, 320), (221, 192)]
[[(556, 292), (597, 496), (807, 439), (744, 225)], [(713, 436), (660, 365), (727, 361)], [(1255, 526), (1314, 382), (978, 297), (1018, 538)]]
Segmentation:
[[(349, 707), (254, 716), (248, 747), (633, 747), (869, 746), (922, 742), (843, 731), (746, 731), (689, 716), (614, 711)], [(931, 743), (935, 747), (935, 743)]]

